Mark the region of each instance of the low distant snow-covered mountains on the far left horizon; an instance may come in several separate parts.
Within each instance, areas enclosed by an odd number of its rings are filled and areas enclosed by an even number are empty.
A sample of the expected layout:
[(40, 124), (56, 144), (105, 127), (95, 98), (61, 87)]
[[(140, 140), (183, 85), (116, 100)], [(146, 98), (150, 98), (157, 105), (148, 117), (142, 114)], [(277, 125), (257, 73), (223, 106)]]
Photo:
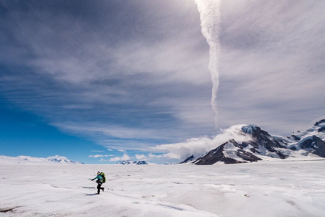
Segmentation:
[(64, 156), (31, 157), (31, 156), (0, 156), (0, 164), (85, 164), (80, 161), (69, 160)]

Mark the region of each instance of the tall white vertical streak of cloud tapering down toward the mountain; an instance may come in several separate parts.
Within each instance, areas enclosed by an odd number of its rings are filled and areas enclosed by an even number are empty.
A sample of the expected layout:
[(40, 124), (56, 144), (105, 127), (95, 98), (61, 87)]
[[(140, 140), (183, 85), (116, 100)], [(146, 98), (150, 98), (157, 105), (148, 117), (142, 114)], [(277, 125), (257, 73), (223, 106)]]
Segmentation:
[(220, 41), (218, 37), (219, 23), (220, 23), (220, 0), (194, 0), (198, 7), (201, 20), (201, 32), (206, 38), (206, 41), (210, 47), (210, 60), (209, 71), (212, 80), (212, 96), (211, 105), (212, 110), (215, 113), (214, 122), (217, 125), (217, 92), (219, 87), (219, 73), (218, 73), (218, 59), (219, 59), (219, 47)]

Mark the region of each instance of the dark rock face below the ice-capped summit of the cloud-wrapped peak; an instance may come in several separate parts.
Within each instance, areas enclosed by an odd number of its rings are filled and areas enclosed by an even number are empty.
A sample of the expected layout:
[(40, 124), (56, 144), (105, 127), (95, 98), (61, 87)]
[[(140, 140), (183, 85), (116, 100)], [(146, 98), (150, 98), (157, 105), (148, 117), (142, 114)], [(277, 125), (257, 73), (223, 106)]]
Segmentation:
[(270, 134), (268, 134), (266, 131), (261, 130), (259, 127), (254, 127), (252, 131), (252, 137), (254, 138), (254, 141), (251, 142), (242, 142), (242, 147), (245, 148), (248, 145), (252, 145), (253, 148), (257, 149), (260, 147), (265, 147), (270, 152), (275, 152), (279, 155), (281, 159), (285, 159), (286, 156), (281, 154), (279, 151), (276, 151), (274, 147), (277, 148), (286, 148), (285, 146), (281, 145), (277, 140), (275, 140)]

